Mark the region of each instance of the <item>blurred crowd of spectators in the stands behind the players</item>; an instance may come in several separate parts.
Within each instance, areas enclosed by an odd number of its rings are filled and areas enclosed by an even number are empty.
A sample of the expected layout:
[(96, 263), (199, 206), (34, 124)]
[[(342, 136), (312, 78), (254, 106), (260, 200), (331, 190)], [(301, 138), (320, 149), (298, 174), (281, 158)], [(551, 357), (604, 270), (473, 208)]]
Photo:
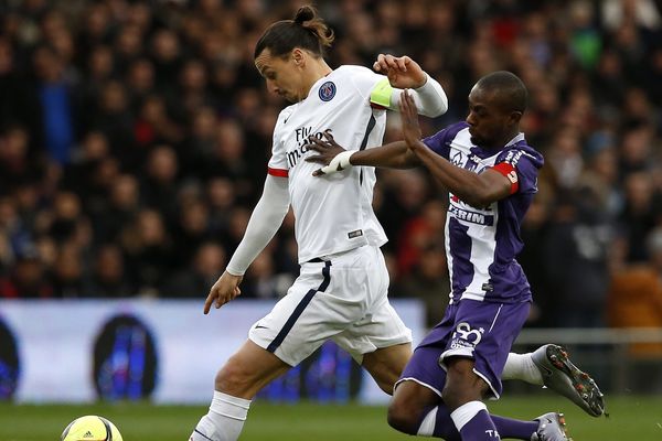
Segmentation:
[[(260, 195), (285, 103), (257, 37), (301, 1), (0, 3), (0, 298), (204, 299)], [(463, 119), (482, 75), (531, 94), (545, 155), (520, 257), (531, 325), (662, 325), (662, 9), (654, 0), (318, 1), (331, 66), (407, 54)], [(425, 118), (423, 118), (425, 119)], [(401, 137), (398, 117), (387, 139)], [(445, 193), (424, 170), (380, 171), (391, 295), (447, 302)], [(333, 207), (327, 207), (333, 209)], [(243, 297), (298, 272), (291, 216)]]

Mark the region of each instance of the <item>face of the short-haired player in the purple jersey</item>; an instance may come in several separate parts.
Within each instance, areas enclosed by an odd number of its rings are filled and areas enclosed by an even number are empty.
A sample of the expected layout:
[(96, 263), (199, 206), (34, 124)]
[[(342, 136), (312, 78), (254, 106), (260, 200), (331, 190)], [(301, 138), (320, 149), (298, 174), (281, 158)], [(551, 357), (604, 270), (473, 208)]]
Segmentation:
[(488, 149), (501, 149), (519, 132), (522, 112), (509, 110), (509, 106), (493, 90), (474, 86), (469, 94), (469, 133), (471, 142)]

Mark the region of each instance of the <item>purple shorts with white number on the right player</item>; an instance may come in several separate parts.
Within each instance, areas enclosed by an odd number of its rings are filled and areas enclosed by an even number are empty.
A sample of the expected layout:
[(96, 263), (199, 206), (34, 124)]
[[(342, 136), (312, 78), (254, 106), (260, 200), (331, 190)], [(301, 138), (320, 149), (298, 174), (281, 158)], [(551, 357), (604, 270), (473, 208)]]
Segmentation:
[(530, 302), (491, 303), (469, 299), (449, 304), (441, 322), (414, 351), (397, 384), (413, 380), (441, 396), (446, 383), (444, 359), (459, 355), (473, 358), (473, 372), (485, 380), (491, 395), (498, 399), (503, 366), (530, 308)]

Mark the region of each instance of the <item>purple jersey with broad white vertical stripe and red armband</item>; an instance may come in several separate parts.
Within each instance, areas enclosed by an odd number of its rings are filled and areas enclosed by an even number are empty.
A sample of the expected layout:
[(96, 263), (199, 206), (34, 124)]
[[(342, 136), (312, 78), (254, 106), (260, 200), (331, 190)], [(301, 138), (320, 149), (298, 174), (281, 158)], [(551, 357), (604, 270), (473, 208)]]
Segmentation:
[[(474, 207), (449, 194), (446, 217), (446, 254), (451, 275), (451, 301), (492, 302), (531, 300), (531, 288), (515, 256), (522, 250), (520, 225), (537, 192), (543, 155), (526, 144), (524, 135), (501, 150), (471, 142), (469, 125), (458, 122), (423, 140), (453, 165), (481, 173), (496, 165), (510, 170), (514, 193), (487, 207)], [(501, 165), (498, 165), (501, 164)]]

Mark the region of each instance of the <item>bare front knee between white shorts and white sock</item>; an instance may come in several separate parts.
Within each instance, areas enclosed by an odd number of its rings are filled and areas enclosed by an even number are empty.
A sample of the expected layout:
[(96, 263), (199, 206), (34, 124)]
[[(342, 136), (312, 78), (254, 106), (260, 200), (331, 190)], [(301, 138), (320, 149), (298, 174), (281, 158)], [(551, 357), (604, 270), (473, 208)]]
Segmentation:
[(250, 399), (289, 368), (287, 363), (248, 340), (221, 368), (215, 389)]

